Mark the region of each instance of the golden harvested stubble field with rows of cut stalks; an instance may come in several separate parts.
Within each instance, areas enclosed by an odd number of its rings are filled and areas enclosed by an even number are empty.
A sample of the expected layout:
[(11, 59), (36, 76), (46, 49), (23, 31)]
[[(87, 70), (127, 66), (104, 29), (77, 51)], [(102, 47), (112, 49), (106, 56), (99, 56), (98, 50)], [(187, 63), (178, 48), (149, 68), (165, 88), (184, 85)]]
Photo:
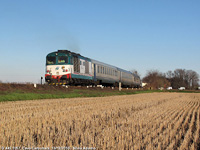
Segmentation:
[(200, 94), (0, 103), (0, 147), (199, 149)]

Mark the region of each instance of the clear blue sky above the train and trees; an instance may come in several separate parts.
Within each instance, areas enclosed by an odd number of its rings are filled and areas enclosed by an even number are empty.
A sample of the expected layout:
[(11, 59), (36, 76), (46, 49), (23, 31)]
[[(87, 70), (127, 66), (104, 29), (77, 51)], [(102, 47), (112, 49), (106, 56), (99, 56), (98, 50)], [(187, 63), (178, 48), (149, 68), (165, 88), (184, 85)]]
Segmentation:
[(68, 49), (142, 77), (200, 74), (199, 0), (0, 0), (0, 80), (39, 82), (45, 57)]

